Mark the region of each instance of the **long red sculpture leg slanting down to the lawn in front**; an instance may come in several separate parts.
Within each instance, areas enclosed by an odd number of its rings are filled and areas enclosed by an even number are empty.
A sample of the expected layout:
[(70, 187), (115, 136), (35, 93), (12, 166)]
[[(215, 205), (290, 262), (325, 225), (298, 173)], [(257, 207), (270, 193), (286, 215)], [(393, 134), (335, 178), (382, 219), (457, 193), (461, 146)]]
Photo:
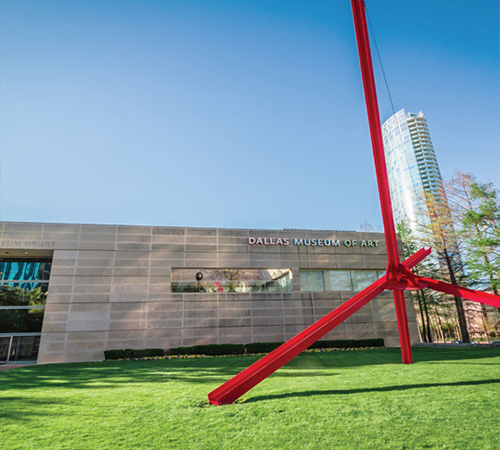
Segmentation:
[(385, 289), (385, 276), (208, 394), (214, 405), (233, 403), (264, 378), (314, 344)]

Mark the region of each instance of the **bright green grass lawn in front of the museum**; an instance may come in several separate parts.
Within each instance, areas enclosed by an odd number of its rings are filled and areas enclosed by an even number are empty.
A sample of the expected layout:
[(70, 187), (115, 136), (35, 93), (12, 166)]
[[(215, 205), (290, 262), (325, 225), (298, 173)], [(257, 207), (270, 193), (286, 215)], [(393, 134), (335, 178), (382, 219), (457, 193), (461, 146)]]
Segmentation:
[(302, 354), (243, 401), (207, 393), (257, 357), (0, 372), (0, 448), (500, 448), (500, 349)]

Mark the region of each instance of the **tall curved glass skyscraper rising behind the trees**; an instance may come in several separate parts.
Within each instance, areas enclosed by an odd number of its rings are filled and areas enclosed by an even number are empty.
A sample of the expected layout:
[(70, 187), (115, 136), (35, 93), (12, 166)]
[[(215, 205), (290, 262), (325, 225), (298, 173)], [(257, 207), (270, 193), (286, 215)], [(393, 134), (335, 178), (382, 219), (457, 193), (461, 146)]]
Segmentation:
[(424, 114), (404, 109), (382, 125), (392, 210), (418, 235), (428, 222), (425, 194), (441, 197), (442, 179)]

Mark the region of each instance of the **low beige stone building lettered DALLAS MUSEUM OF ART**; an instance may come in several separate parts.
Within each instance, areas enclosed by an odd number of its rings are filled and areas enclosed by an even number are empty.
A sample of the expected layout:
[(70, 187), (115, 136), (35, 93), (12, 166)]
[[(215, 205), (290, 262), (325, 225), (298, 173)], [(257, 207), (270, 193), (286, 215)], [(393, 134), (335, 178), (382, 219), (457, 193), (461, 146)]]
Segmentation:
[[(0, 362), (285, 341), (386, 261), (381, 233), (0, 222)], [(365, 338), (399, 346), (391, 292), (324, 337)]]

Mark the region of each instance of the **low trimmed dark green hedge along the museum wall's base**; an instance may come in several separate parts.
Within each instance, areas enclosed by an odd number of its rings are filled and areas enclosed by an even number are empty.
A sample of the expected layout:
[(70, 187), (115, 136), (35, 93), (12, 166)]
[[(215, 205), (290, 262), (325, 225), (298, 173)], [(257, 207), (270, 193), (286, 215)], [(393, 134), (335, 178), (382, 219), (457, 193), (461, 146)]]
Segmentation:
[[(167, 355), (243, 355), (245, 353), (269, 353), (283, 342), (253, 342), (251, 344), (209, 344), (192, 347), (174, 347), (166, 352), (161, 348), (105, 350), (105, 359), (146, 358)], [(339, 339), (336, 341), (317, 341), (309, 348), (359, 348), (383, 347), (383, 339)]]

